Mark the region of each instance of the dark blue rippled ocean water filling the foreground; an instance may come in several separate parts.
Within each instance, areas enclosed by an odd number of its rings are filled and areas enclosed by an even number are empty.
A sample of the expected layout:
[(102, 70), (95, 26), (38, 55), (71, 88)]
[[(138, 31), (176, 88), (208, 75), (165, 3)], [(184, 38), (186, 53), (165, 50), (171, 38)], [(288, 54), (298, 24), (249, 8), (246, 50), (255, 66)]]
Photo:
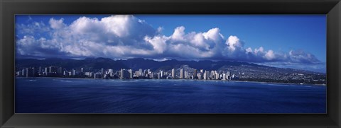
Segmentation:
[(16, 78), (16, 113), (325, 113), (325, 86)]

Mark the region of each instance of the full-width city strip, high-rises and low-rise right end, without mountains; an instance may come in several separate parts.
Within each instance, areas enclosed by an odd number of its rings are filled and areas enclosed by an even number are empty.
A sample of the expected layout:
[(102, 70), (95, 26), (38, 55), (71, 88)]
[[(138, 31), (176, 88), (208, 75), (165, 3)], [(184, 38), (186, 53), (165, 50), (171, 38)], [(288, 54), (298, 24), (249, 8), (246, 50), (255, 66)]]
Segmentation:
[[(42, 68), (29, 67), (16, 71), (16, 77), (55, 77), (55, 78), (94, 78), (94, 79), (193, 79), (193, 80), (221, 80), (221, 81), (259, 81), (275, 83), (308, 83), (308, 84), (326, 84), (325, 74), (303, 73), (295, 71), (292, 74), (247, 74), (242, 71), (230, 72), (228, 70), (204, 70), (193, 68), (184, 68), (168, 71), (151, 69), (65, 69), (58, 66), (46, 66)], [(275, 78), (276, 77), (276, 78)]]

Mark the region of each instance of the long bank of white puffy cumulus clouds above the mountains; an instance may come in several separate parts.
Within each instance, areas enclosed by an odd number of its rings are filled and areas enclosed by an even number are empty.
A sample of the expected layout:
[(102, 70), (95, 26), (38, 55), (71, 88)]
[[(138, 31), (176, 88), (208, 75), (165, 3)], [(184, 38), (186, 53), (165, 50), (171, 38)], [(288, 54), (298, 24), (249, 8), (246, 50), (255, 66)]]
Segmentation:
[[(153, 28), (146, 21), (129, 15), (101, 19), (80, 17), (69, 23), (50, 18), (48, 25), (33, 22), (17, 25), (16, 32), (25, 36), (16, 40), (16, 51), (30, 57), (109, 57), (127, 59), (213, 59), (245, 62), (291, 62), (315, 64), (320, 61), (302, 50), (278, 53), (260, 46), (244, 48), (237, 35), (227, 38), (220, 28), (206, 32), (185, 32), (185, 26), (174, 28), (170, 36), (162, 27)], [(37, 35), (35, 32), (45, 33)]]

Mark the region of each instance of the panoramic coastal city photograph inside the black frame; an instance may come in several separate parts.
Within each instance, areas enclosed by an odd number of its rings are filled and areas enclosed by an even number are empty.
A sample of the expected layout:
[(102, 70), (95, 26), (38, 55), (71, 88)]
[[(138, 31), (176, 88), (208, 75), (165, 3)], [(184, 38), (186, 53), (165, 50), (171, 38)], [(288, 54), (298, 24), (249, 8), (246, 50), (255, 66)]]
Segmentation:
[(14, 20), (15, 113), (327, 113), (325, 14)]

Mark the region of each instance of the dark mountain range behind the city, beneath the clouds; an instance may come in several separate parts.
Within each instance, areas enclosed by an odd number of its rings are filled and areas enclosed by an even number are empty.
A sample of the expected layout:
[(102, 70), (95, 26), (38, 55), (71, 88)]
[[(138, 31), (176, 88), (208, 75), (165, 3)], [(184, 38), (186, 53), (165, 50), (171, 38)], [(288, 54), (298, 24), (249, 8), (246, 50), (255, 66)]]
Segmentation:
[(162, 62), (155, 61), (153, 59), (109, 59), (109, 58), (86, 58), (86, 59), (60, 59), (60, 58), (49, 58), (49, 59), (16, 59), (16, 69), (22, 69), (26, 67), (47, 67), (47, 66), (58, 66), (63, 67), (67, 70), (70, 69), (133, 69), (134, 71), (139, 69), (151, 69), (151, 71), (169, 71), (171, 69), (178, 69), (183, 66), (188, 66), (191, 69), (203, 69), (203, 70), (225, 70), (234, 72), (276, 72), (279, 74), (291, 74), (291, 73), (304, 73), (304, 74), (322, 74), (313, 71), (305, 71), (299, 69), (288, 69), (288, 68), (276, 68), (273, 66), (264, 66), (259, 64), (247, 63), (247, 62), (234, 62), (234, 61), (217, 61), (213, 62), (210, 60), (203, 61), (178, 61), (175, 59), (166, 60)]

